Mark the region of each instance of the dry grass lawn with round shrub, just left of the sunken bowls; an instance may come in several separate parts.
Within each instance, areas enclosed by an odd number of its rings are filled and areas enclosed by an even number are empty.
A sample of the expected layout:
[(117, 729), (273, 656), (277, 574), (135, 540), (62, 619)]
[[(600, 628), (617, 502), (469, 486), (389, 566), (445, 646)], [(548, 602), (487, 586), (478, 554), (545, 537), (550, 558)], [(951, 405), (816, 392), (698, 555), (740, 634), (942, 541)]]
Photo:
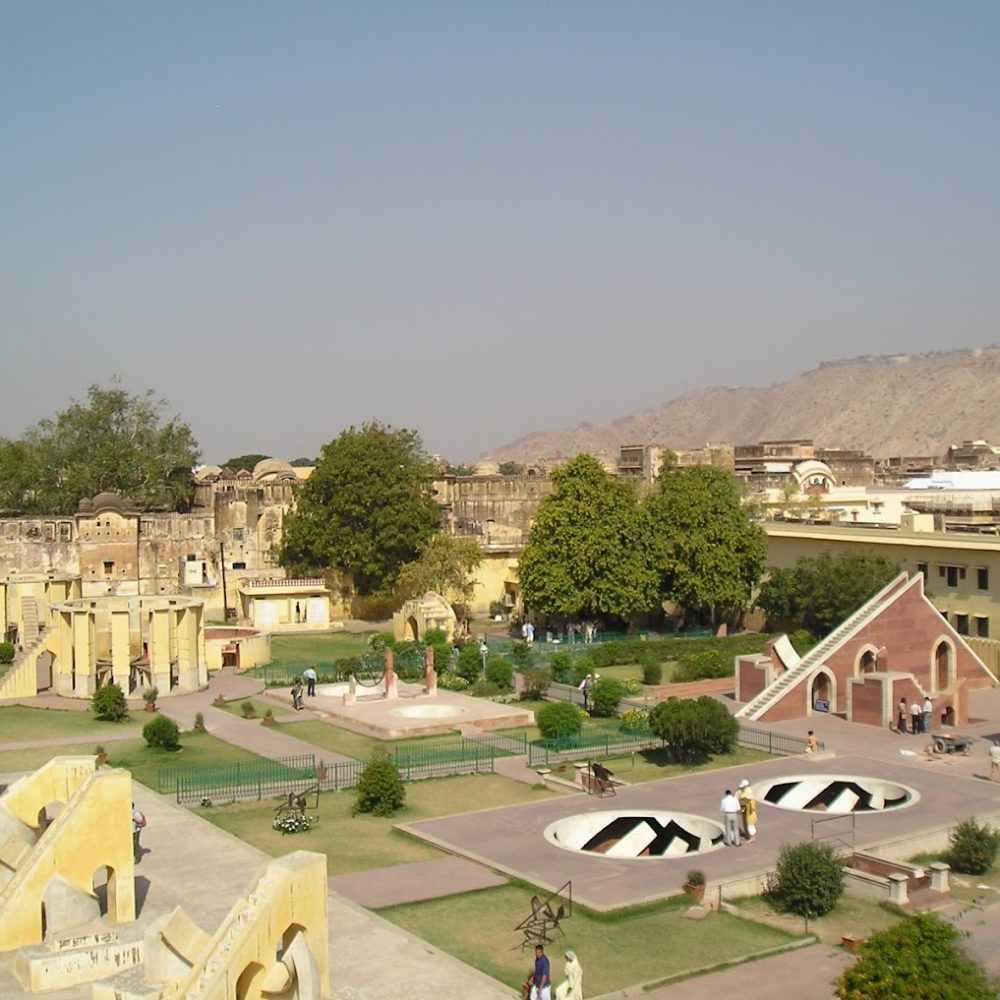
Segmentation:
[(271, 828), (278, 799), (199, 808), (198, 815), (278, 857), (289, 851), (321, 851), (331, 875), (367, 871), (410, 861), (443, 857), (437, 848), (393, 829), (401, 822), (515, 805), (551, 796), (541, 788), (494, 774), (415, 781), (406, 786), (406, 806), (394, 817), (352, 816), (353, 791), (324, 792), (317, 822), (306, 833), (281, 834)]

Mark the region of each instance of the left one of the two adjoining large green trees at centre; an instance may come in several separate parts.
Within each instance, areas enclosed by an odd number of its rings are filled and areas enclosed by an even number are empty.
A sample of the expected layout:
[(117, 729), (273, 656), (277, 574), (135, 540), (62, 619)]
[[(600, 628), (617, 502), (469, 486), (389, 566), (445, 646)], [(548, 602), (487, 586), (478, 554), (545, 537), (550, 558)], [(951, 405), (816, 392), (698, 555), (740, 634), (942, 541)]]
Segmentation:
[(648, 611), (657, 573), (635, 488), (590, 455), (577, 455), (552, 481), (518, 562), (525, 604), (561, 618)]

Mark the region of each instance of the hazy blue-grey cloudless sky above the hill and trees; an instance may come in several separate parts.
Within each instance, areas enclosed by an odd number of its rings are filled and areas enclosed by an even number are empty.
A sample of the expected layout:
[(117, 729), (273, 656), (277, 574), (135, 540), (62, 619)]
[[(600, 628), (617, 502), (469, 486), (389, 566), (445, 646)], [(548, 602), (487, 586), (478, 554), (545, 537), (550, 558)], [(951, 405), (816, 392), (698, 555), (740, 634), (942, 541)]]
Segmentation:
[(1000, 3), (0, 2), (0, 434), (457, 461), (996, 342)]

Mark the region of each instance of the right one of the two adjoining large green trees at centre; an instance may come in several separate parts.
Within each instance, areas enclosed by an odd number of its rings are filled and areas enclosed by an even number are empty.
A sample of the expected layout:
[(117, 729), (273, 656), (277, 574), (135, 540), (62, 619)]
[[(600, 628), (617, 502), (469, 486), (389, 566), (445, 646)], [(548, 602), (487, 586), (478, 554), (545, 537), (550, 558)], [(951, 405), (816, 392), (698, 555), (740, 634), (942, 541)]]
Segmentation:
[(663, 596), (688, 617), (738, 618), (767, 557), (767, 536), (725, 469), (694, 465), (661, 475), (646, 500)]

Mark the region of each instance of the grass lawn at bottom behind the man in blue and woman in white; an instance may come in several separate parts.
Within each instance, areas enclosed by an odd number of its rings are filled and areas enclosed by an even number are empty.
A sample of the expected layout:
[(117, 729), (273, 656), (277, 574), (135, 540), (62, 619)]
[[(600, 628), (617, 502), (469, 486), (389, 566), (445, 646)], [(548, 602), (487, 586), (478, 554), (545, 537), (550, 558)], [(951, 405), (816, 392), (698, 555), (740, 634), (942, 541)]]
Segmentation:
[[(389, 907), (379, 915), (516, 987), (533, 961), (532, 952), (520, 947), (521, 932), (513, 930), (528, 915), (531, 894), (529, 887), (512, 884)], [(596, 996), (719, 965), (796, 936), (724, 913), (686, 920), (686, 906), (670, 902), (621, 917), (575, 907), (565, 921), (565, 939), (547, 948), (553, 981), (563, 978), (565, 948), (572, 948), (583, 966), (584, 995)]]

